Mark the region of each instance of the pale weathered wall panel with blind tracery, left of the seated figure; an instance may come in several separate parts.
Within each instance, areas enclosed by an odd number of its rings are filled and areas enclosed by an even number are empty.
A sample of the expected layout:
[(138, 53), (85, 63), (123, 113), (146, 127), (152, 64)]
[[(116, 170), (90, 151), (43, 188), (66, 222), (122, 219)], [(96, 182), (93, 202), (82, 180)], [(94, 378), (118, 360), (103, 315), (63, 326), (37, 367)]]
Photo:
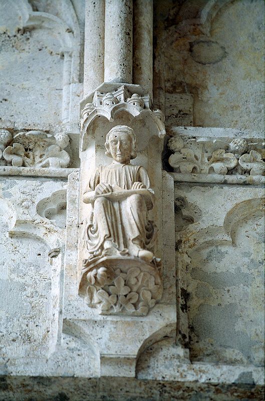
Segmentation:
[[(64, 230), (57, 224), (58, 204), (51, 195), (64, 185), (40, 177), (1, 177), (0, 352), (5, 360), (41, 358), (56, 346)], [(44, 198), (54, 210), (46, 216), (40, 210)]]

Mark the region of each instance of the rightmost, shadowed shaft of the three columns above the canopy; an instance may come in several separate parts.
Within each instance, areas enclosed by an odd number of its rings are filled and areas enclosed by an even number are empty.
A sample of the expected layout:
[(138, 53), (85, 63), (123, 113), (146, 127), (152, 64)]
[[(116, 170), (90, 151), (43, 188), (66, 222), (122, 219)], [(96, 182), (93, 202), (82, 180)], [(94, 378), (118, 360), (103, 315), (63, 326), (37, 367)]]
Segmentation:
[(153, 95), (153, 1), (133, 4), (133, 83)]

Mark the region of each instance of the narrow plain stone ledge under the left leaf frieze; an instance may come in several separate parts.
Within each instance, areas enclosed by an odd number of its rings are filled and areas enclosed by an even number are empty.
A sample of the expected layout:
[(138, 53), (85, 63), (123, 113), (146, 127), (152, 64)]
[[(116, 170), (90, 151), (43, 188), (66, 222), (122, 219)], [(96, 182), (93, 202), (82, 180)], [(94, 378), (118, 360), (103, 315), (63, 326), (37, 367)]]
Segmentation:
[(77, 168), (51, 168), (51, 167), (17, 167), (0, 166), (1, 175), (20, 175), (28, 177), (52, 177), (67, 178), (72, 172), (79, 170)]

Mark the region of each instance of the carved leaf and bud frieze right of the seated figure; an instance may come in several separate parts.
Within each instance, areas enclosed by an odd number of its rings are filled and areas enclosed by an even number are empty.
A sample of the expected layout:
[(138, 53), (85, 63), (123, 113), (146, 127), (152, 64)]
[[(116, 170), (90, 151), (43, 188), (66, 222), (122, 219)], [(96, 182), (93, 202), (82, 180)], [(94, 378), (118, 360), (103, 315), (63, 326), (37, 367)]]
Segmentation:
[[(190, 129), (191, 130), (191, 129)], [(193, 128), (196, 133), (196, 128)], [(208, 137), (174, 134), (167, 147), (175, 173), (264, 175), (264, 142), (260, 138)]]

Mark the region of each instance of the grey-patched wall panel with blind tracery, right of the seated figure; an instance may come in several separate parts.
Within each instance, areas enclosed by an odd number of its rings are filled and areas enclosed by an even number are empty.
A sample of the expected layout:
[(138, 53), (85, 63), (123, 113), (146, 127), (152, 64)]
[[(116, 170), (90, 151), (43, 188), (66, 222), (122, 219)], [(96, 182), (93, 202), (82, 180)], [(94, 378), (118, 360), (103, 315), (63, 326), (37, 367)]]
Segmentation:
[(175, 183), (192, 361), (263, 366), (262, 196), (262, 186)]

